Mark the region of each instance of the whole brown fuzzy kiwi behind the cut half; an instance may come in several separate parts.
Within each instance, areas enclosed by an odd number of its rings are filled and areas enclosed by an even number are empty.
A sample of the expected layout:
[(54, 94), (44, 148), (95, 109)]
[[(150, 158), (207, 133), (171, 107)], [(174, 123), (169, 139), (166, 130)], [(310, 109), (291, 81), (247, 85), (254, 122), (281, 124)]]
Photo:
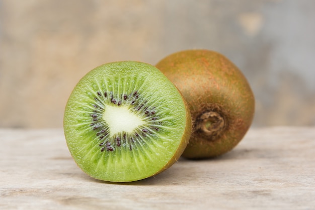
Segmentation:
[(230, 60), (203, 49), (173, 53), (156, 65), (181, 91), (193, 121), (183, 156), (211, 158), (232, 150), (252, 124), (255, 99)]

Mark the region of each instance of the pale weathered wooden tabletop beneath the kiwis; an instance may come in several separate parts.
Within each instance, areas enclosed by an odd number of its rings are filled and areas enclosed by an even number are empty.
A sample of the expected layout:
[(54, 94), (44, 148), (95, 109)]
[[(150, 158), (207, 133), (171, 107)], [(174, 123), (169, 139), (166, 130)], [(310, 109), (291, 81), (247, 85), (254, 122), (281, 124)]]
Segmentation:
[(95, 180), (62, 129), (0, 129), (0, 209), (315, 209), (315, 128), (251, 128), (216, 159), (131, 183)]

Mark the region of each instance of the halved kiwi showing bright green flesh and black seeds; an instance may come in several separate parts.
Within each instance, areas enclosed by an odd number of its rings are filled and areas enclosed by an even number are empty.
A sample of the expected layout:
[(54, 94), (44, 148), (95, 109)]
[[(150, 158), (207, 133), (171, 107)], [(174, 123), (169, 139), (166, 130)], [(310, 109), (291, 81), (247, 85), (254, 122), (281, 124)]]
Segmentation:
[(64, 135), (76, 164), (93, 178), (131, 182), (174, 164), (192, 131), (189, 107), (153, 65), (111, 62), (74, 87)]

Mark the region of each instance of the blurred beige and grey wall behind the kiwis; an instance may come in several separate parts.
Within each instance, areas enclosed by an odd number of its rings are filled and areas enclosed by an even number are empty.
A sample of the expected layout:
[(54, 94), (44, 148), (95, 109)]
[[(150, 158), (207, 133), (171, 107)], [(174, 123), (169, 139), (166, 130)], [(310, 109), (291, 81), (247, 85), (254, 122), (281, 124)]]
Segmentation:
[(254, 126), (315, 125), (314, 11), (313, 0), (0, 0), (0, 127), (61, 127), (92, 68), (191, 48), (242, 69)]

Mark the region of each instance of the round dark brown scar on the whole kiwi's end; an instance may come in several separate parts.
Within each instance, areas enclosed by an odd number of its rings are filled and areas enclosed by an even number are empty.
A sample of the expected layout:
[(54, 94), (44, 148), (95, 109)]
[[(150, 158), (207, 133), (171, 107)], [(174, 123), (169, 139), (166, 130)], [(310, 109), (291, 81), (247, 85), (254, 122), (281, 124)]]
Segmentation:
[(196, 119), (196, 130), (205, 136), (218, 136), (224, 129), (224, 118), (215, 111), (206, 111)]

